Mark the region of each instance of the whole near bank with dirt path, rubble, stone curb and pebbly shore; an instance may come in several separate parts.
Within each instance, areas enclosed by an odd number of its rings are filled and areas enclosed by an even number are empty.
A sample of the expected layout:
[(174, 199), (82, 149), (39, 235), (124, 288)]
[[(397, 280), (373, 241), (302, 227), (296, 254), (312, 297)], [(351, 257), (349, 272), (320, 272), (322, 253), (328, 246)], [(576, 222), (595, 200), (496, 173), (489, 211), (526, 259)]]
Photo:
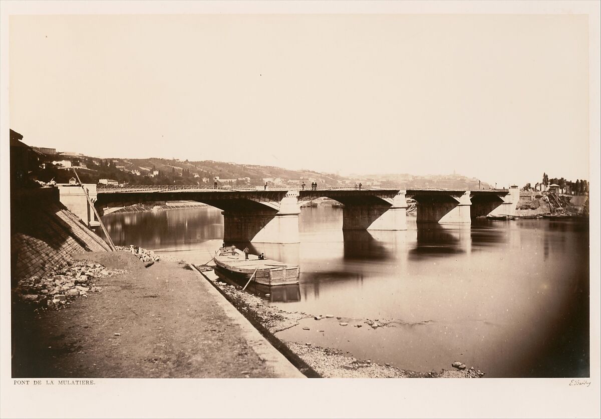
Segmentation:
[[(415, 372), (337, 348), (282, 341), (275, 335), (299, 321), (313, 319), (317, 327), (340, 319), (269, 306), (184, 261), (166, 258), (145, 267), (130, 252), (86, 252), (74, 259), (56, 278), (23, 282), (26, 294), (15, 297), (25, 298), (13, 298), (15, 378), (480, 376), (472, 370)], [(386, 325), (366, 321), (365, 327)]]

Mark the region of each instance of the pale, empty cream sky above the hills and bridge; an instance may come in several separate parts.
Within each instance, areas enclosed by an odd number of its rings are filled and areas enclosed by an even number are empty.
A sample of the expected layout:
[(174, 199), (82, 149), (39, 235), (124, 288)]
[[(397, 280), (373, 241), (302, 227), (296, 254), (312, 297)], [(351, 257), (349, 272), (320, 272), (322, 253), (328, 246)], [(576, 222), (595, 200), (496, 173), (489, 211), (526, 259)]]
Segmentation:
[(12, 16), (10, 125), (99, 157), (589, 178), (587, 19)]

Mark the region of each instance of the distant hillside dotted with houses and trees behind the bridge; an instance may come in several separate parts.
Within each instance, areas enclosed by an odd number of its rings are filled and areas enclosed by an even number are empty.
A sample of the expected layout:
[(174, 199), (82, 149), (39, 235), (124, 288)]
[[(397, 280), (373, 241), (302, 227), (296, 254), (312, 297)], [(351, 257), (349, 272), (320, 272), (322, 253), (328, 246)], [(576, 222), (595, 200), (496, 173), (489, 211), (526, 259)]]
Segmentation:
[[(222, 161), (188, 161), (168, 158), (96, 158), (85, 155), (47, 155), (46, 167), (35, 173), (40, 181), (68, 182), (73, 170), (78, 168), (82, 182), (97, 183), (111, 179), (119, 184), (198, 184), (213, 185), (218, 178), (220, 186), (259, 187), (267, 183), (272, 187), (300, 187), (311, 182), (323, 187), (406, 187), (406, 188), (478, 188), (478, 179), (462, 175), (413, 176), (408, 174), (352, 175), (312, 170), (289, 170), (275, 166), (236, 164)], [(53, 163), (54, 164), (53, 164)], [(103, 181), (105, 182), (105, 181)], [(481, 184), (487, 188), (487, 183)]]

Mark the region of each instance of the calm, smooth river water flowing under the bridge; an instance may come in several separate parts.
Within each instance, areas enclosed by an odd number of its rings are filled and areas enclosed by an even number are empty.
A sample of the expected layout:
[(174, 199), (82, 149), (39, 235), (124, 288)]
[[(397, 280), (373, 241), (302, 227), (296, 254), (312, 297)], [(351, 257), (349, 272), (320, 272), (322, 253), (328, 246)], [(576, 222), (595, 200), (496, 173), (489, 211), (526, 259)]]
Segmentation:
[[(301, 267), (300, 285), (271, 291), (268, 304), (334, 316), (305, 319), (276, 336), (408, 370), (462, 361), (487, 377), (589, 376), (588, 222), (417, 228), (407, 218), (407, 231), (343, 232), (342, 209), (303, 208), (300, 244), (249, 246)], [(212, 207), (103, 221), (115, 244), (195, 264), (211, 259), (224, 232)]]

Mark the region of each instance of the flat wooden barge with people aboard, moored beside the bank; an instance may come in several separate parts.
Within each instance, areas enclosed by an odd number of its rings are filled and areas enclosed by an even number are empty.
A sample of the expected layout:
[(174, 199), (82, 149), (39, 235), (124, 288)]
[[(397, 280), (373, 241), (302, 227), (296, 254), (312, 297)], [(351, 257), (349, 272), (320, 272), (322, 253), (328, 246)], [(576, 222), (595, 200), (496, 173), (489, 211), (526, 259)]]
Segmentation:
[(257, 255), (245, 254), (236, 247), (222, 247), (215, 254), (215, 264), (237, 277), (252, 279), (267, 286), (299, 283), (300, 269), (273, 259), (259, 259)]

